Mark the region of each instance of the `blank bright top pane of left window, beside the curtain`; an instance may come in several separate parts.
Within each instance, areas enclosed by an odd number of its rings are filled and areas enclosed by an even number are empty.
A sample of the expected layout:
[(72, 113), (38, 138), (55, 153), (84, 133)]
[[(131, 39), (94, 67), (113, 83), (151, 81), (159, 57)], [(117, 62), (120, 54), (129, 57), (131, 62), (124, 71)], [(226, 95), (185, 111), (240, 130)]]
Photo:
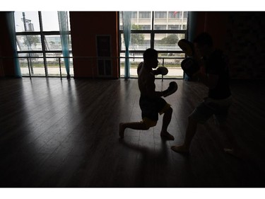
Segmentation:
[(57, 11), (42, 12), (43, 31), (59, 31)]

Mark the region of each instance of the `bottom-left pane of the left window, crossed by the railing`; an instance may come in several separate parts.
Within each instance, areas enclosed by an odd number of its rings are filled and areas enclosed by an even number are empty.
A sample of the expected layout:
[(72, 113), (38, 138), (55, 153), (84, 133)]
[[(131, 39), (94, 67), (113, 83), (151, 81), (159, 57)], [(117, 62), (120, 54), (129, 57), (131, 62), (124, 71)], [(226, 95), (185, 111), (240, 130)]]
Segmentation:
[[(45, 76), (45, 67), (42, 53), (20, 53), (19, 59), (21, 74), (23, 76)], [(40, 58), (39, 58), (40, 57)]]

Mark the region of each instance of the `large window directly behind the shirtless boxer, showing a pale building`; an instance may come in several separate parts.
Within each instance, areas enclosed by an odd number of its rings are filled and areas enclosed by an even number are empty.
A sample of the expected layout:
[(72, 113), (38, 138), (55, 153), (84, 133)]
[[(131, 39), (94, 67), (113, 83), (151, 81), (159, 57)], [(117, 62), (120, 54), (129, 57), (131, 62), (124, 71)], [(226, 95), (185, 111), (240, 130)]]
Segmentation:
[[(133, 11), (131, 12), (131, 41), (129, 45), (130, 76), (137, 77), (136, 68), (143, 61), (143, 52), (152, 47), (158, 50), (159, 66), (169, 73), (164, 78), (183, 78), (180, 63), (185, 58), (177, 42), (187, 37), (186, 11)], [(120, 57), (125, 57), (122, 12), (119, 12)], [(124, 77), (124, 62), (120, 60), (120, 74)], [(160, 76), (158, 76), (160, 77)]]

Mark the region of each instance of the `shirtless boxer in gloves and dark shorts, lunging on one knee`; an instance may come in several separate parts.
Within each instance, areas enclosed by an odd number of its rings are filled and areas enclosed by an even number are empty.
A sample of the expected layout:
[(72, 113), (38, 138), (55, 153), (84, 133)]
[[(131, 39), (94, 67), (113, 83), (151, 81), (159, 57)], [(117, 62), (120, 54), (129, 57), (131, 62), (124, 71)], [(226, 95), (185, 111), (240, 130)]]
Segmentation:
[(169, 96), (177, 91), (177, 83), (170, 82), (170, 86), (165, 91), (155, 91), (155, 74), (163, 74), (165, 67), (158, 67), (158, 52), (152, 48), (143, 53), (143, 62), (137, 69), (138, 85), (141, 92), (139, 104), (142, 111), (142, 121), (134, 123), (120, 123), (119, 137), (124, 137), (124, 130), (128, 127), (134, 130), (148, 130), (154, 127), (158, 121), (158, 113), (163, 114), (163, 125), (160, 136), (166, 140), (175, 138), (167, 132), (167, 126), (172, 117), (172, 108), (162, 96)]

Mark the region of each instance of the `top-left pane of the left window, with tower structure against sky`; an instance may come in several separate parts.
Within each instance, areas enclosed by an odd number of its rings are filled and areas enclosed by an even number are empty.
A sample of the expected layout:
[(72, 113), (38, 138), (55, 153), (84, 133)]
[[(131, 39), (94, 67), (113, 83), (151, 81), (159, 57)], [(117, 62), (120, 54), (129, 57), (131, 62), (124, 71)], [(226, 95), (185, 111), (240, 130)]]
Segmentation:
[(40, 31), (38, 12), (15, 12), (16, 32)]

